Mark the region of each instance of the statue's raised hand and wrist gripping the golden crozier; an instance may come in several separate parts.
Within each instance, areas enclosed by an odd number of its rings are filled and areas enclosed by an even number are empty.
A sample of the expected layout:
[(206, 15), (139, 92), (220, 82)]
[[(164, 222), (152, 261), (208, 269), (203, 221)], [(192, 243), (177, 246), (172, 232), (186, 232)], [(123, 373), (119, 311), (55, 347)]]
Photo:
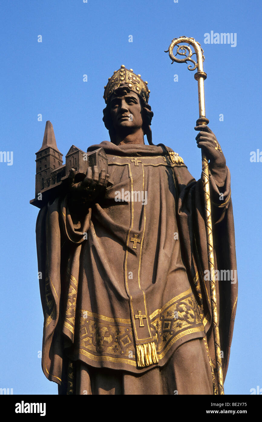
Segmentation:
[(227, 175), (225, 156), (217, 138), (208, 126), (201, 124), (194, 128), (200, 132), (196, 135), (196, 143), (201, 148), (209, 162), (209, 170), (218, 184), (223, 184)]

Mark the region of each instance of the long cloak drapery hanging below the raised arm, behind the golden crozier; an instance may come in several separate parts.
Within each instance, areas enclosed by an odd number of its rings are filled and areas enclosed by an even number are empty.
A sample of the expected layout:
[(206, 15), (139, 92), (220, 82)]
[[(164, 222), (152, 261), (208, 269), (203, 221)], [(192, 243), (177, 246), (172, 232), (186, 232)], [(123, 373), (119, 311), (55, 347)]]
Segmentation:
[[(209, 267), (203, 182), (201, 179), (198, 181), (193, 179), (186, 167), (177, 166), (174, 171), (177, 182), (177, 222), (180, 230), (179, 237), (183, 262), (188, 269), (188, 274), (191, 272), (191, 280), (195, 277), (194, 274), (198, 274), (203, 306), (204, 309), (208, 310), (211, 317), (210, 285), (209, 281), (204, 280), (204, 271), (208, 270)], [(209, 185), (215, 269), (218, 270), (219, 274), (221, 274), (221, 271), (228, 271), (230, 273), (229, 280), (216, 281), (220, 346), (223, 352), (222, 367), (225, 379), (233, 335), (238, 291), (229, 169), (227, 168), (227, 175), (223, 186), (219, 186), (212, 175), (209, 177)], [(191, 285), (193, 285), (193, 281)], [(213, 365), (215, 366), (212, 320), (209, 319), (209, 321), (209, 324), (205, 328), (209, 352)]]

